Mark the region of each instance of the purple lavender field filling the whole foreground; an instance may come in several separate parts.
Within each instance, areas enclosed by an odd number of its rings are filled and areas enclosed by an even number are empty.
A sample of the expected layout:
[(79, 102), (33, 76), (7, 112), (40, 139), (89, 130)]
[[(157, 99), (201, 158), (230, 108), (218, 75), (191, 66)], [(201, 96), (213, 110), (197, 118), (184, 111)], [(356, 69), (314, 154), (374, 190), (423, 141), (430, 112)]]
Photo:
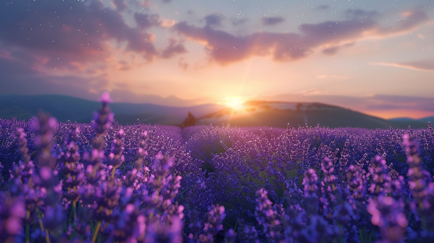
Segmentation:
[(434, 130), (0, 119), (2, 242), (434, 240)]

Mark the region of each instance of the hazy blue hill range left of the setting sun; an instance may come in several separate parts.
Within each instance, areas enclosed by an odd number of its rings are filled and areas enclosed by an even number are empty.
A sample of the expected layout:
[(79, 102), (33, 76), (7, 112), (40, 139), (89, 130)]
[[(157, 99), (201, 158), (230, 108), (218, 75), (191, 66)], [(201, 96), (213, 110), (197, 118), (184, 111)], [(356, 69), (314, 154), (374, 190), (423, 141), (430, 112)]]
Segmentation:
[[(93, 111), (98, 110), (101, 103), (79, 99), (66, 95), (0, 95), (0, 118), (29, 119), (42, 109), (59, 121), (89, 123)], [(205, 104), (190, 107), (173, 107), (154, 104), (112, 103), (110, 108), (115, 112), (115, 120), (126, 125), (142, 123), (180, 125), (190, 111), (202, 116), (224, 108), (222, 105)]]

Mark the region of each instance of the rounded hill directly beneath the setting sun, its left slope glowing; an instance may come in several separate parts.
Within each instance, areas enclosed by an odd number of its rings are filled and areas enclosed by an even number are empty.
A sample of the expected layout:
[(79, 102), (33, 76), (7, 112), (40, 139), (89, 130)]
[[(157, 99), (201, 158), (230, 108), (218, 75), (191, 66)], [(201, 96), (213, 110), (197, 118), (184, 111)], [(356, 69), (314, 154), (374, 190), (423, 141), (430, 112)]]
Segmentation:
[[(207, 124), (230, 124), (234, 126), (273, 126), (286, 128), (287, 123), (294, 127), (320, 126), (338, 128), (404, 128), (392, 121), (355, 112), (339, 106), (321, 103), (293, 103), (293, 102), (246, 102), (245, 109), (233, 111), (222, 109), (199, 118)], [(408, 126), (407, 126), (408, 127)]]

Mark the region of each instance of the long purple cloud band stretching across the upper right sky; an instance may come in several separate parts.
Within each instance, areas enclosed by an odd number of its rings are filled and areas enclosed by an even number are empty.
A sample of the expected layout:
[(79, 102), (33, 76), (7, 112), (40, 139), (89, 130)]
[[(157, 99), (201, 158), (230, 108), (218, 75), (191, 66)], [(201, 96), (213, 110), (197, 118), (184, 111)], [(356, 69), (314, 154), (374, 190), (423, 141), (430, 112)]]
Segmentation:
[(317, 24), (302, 24), (301, 33), (260, 32), (251, 35), (236, 36), (215, 30), (211, 26), (196, 27), (182, 21), (174, 25), (174, 30), (182, 36), (205, 43), (210, 58), (220, 65), (238, 62), (252, 56), (272, 55), (276, 61), (288, 61), (303, 58), (317, 47), (326, 53), (334, 53), (341, 46), (352, 44), (362, 38), (378, 38), (397, 35), (410, 30), (428, 17), (422, 11), (409, 12), (397, 26), (379, 25), (374, 18), (353, 17), (344, 21), (326, 21)]

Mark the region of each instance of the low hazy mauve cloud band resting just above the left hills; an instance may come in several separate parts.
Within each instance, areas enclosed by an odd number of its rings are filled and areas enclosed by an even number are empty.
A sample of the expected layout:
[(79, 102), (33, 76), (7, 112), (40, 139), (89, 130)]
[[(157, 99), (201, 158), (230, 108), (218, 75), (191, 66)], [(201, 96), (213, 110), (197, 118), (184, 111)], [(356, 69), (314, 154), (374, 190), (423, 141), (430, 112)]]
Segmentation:
[(89, 79), (68, 75), (46, 75), (32, 69), (22, 60), (0, 58), (0, 73), (2, 74), (0, 95), (59, 94), (98, 100), (103, 92), (110, 91), (110, 96), (116, 102), (152, 103), (171, 106), (190, 106), (197, 105), (197, 102), (200, 103), (199, 100), (184, 100), (175, 96), (164, 98), (159, 95), (139, 94), (129, 88), (128, 85), (117, 85), (117, 87), (108, 90), (109, 80), (103, 77)]

